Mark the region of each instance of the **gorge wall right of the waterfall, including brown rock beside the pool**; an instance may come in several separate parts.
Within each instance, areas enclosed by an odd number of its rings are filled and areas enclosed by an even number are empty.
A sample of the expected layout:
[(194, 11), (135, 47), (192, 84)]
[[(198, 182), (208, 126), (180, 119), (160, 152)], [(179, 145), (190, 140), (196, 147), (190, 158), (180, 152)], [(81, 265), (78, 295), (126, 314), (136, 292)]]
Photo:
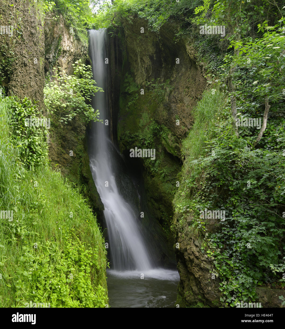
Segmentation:
[[(142, 32), (143, 28), (143, 33)], [(173, 191), (184, 160), (181, 141), (193, 125), (191, 111), (206, 88), (205, 69), (199, 64), (193, 40), (175, 40), (175, 25), (165, 24), (159, 34), (147, 22), (132, 17), (119, 31), (124, 45), (117, 114), (120, 151), (128, 159), (128, 170), (139, 172), (143, 186), (142, 208), (163, 228), (163, 237), (174, 249), (180, 275), (177, 304), (180, 307), (221, 307), (220, 279), (213, 261), (202, 253), (202, 240), (179, 232), (173, 225)], [(179, 61), (177, 61), (179, 60)], [(130, 158), (131, 148), (155, 148), (156, 161)], [(134, 169), (139, 168), (139, 169)], [(139, 176), (139, 174), (137, 174)], [(153, 231), (149, 223), (144, 224)], [(217, 230), (215, 220), (206, 225)], [(157, 232), (160, 229), (155, 227)], [(280, 307), (282, 290), (257, 287), (263, 307)]]

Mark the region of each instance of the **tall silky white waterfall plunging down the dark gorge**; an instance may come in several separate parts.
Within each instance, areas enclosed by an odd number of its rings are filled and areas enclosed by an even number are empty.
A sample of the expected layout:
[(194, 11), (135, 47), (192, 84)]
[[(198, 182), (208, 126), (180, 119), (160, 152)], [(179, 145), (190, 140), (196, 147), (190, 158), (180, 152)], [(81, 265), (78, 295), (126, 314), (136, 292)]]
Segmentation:
[(104, 217), (109, 237), (111, 267), (115, 270), (147, 270), (153, 267), (147, 247), (138, 225), (140, 213), (118, 189), (117, 150), (113, 145), (109, 125), (108, 111), (108, 69), (105, 64), (106, 30), (90, 30), (90, 57), (93, 79), (97, 87), (104, 92), (97, 92), (93, 97), (93, 108), (99, 110), (102, 122), (93, 122), (91, 128), (92, 145), (89, 150), (90, 168), (97, 191), (104, 204)]

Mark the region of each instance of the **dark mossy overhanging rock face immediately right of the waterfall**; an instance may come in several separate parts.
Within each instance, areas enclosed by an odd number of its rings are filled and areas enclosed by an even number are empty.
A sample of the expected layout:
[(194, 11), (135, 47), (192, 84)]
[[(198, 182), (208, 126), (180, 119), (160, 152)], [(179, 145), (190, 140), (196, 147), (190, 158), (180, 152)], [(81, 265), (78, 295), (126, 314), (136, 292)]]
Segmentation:
[[(170, 233), (171, 193), (182, 165), (181, 140), (193, 124), (191, 109), (206, 79), (188, 41), (173, 41), (173, 27), (165, 25), (158, 36), (148, 31), (146, 21), (135, 17), (132, 23), (124, 22), (124, 31), (119, 39), (124, 45), (117, 114), (119, 148), (129, 171), (138, 168), (137, 176), (143, 178), (138, 184), (141, 207), (150, 217), (144, 226), (156, 232), (159, 242), (168, 242), (171, 254), (175, 242)], [(148, 159), (130, 158), (131, 148), (146, 145), (156, 151), (153, 166)]]

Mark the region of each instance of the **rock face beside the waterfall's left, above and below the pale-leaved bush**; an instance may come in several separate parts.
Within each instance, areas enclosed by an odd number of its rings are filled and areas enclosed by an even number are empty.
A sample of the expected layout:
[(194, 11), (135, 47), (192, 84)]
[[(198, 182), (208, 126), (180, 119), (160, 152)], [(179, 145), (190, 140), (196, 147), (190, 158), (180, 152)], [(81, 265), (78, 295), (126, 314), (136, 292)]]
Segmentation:
[[(66, 74), (73, 73), (72, 64), (82, 59), (88, 61), (88, 42), (74, 38), (62, 15), (50, 13), (44, 24), (45, 35), (45, 74), (52, 78), (53, 67), (60, 66)], [(104, 210), (92, 178), (87, 153), (86, 124), (75, 117), (68, 124), (60, 123), (57, 114), (51, 114), (49, 136), (49, 159), (53, 168), (73, 182), (97, 213)]]

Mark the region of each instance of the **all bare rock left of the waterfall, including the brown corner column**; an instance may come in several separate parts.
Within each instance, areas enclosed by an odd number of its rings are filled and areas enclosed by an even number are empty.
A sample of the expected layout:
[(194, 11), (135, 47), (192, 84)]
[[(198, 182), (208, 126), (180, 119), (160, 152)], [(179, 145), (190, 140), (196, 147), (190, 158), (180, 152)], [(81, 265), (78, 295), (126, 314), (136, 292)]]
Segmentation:
[(8, 2), (1, 2), (0, 25), (13, 26), (13, 35), (0, 35), (0, 59), (4, 63), (0, 66), (0, 82), (9, 95), (36, 100), (39, 111), (51, 118), (48, 138), (51, 164), (81, 188), (89, 204), (100, 212), (104, 206), (89, 167), (85, 124), (79, 118), (62, 125), (56, 115), (45, 113), (43, 104), (45, 76), (49, 79), (53, 75), (54, 66), (72, 74), (73, 63), (80, 58), (88, 59), (88, 40), (87, 37), (85, 42), (76, 40), (62, 15), (56, 18), (57, 13), (48, 13), (43, 23), (40, 13), (34, 2), (17, 1), (13, 8)]

